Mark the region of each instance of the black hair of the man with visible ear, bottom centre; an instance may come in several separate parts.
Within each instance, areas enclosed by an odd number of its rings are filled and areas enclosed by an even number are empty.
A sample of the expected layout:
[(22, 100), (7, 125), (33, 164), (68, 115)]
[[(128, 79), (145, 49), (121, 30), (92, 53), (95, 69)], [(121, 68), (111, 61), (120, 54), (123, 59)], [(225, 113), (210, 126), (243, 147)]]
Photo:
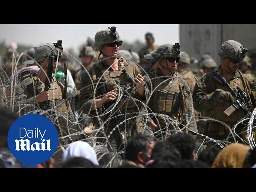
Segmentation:
[(139, 152), (147, 152), (150, 142), (150, 136), (146, 135), (135, 135), (129, 138), (125, 147), (125, 159), (136, 161)]

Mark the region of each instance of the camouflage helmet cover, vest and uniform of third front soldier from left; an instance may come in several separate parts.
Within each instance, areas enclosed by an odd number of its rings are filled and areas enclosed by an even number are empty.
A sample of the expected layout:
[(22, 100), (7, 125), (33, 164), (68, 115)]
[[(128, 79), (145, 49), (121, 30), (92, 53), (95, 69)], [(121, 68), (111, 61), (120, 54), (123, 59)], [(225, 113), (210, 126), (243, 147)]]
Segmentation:
[[(176, 53), (176, 51), (173, 48), (173, 45), (171, 44), (164, 44), (159, 46), (158, 49), (156, 50), (156, 53), (160, 52), (160, 50), (162, 50), (165, 46), (168, 46), (168, 50), (164, 53), (164, 57), (180, 57), (180, 54)], [(155, 71), (149, 72), (148, 76), (144, 76), (145, 82), (148, 87), (148, 92), (146, 92), (145, 94), (150, 95), (150, 92), (156, 88), (148, 103), (149, 108), (152, 109), (152, 112), (154, 113), (169, 115), (179, 92), (182, 90), (182, 86), (184, 84), (181, 82), (180, 78), (175, 73), (173, 78), (169, 78), (170, 77), (165, 77), (159, 68), (157, 68)], [(167, 79), (169, 80), (166, 81)], [(193, 123), (190, 123), (188, 125), (188, 128), (185, 128), (184, 131), (198, 132), (195, 123), (194, 110), (191, 105), (192, 103), (189, 99), (191, 90), (187, 90), (185, 86), (182, 92), (184, 100), (180, 106), (178, 114), (175, 114), (174, 116), (174, 121), (176, 121), (176, 123), (182, 122), (184, 124), (183, 121), (188, 122), (191, 118), (191, 121)], [(158, 121), (156, 121), (156, 117), (152, 115), (152, 118), (148, 119), (148, 123), (151, 123), (153, 121), (152, 119), (154, 120), (156, 125), (158, 125), (159, 122), (160, 126), (166, 126), (165, 120), (161, 116), (158, 116)], [(170, 129), (173, 128), (174, 125), (170, 124)]]

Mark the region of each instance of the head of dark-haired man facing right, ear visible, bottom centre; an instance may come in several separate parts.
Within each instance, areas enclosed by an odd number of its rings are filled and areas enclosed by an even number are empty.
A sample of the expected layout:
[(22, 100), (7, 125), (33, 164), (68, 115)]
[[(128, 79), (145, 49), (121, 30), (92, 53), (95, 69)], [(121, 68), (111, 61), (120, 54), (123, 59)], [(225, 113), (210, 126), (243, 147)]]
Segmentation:
[(144, 166), (151, 158), (154, 145), (154, 138), (146, 135), (135, 135), (128, 139), (125, 159)]

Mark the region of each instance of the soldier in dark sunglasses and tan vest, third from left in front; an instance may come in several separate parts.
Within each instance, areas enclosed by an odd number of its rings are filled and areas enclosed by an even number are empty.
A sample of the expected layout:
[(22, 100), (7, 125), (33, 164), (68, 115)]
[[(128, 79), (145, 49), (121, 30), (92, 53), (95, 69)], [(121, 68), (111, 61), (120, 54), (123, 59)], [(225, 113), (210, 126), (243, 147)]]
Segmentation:
[[(166, 46), (168, 46), (168, 50), (159, 61), (158, 68), (155, 71), (149, 72), (148, 76), (144, 76), (148, 89), (150, 91), (154, 90), (148, 106), (153, 113), (169, 115), (173, 110), (177, 95), (182, 91), (184, 94), (183, 98), (185, 99), (182, 99), (183, 101), (180, 102), (182, 104), (178, 108), (178, 114), (175, 114), (174, 116), (174, 121), (176, 123), (182, 122), (183, 120), (184, 122), (188, 122), (188, 120), (192, 118), (193, 123), (190, 123), (188, 128), (184, 131), (189, 133), (198, 132), (195, 123), (194, 111), (191, 105), (192, 103), (188, 98), (191, 91), (188, 90), (188, 87), (182, 89), (184, 84), (175, 74), (177, 70), (177, 62), (180, 60), (180, 49), (172, 44), (163, 44), (157, 48), (156, 53), (159, 53)], [(171, 79), (170, 76), (172, 77)], [(150, 92), (146, 94), (149, 95)], [(148, 112), (150, 113), (150, 110), (148, 110)], [(160, 115), (152, 115), (152, 118), (148, 119), (147, 125), (155, 131), (158, 122), (159, 126), (166, 126), (164, 118)], [(182, 123), (184, 124), (184, 122)], [(169, 126), (170, 129), (173, 129), (174, 127), (174, 125)]]

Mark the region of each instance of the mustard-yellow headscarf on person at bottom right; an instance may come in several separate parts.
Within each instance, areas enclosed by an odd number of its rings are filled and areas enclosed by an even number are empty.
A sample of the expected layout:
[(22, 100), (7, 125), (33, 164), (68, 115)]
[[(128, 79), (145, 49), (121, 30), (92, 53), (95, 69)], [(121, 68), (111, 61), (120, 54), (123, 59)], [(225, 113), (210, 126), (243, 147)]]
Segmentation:
[(212, 164), (212, 168), (242, 168), (250, 147), (232, 143), (222, 149)]

